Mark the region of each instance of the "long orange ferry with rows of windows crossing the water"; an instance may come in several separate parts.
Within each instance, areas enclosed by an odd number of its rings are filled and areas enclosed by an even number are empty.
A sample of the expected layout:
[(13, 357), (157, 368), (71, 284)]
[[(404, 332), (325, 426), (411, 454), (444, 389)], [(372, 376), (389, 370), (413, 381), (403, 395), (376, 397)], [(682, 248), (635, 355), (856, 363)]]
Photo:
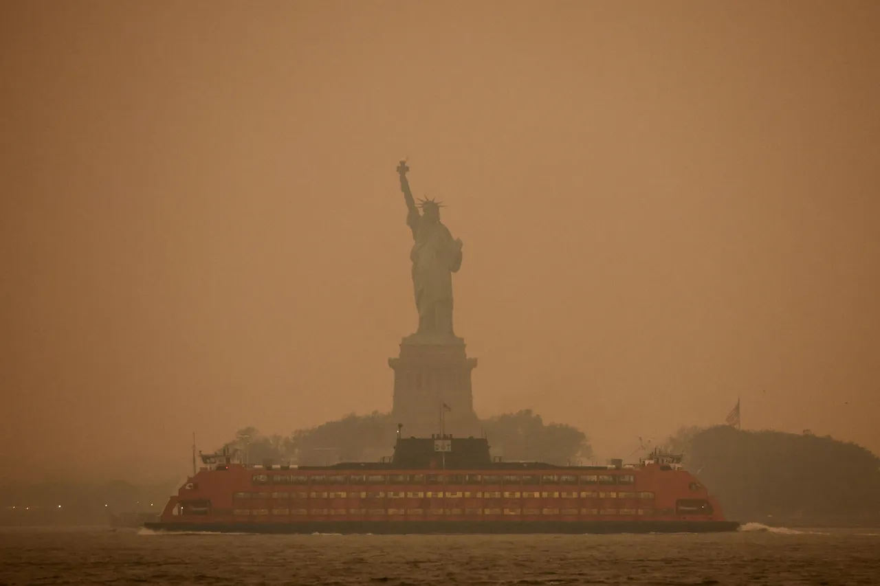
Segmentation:
[(681, 458), (637, 465), (503, 462), (488, 440), (398, 436), (392, 458), (246, 465), (204, 454), (165, 505), (164, 531), (256, 533), (644, 533), (735, 531)]

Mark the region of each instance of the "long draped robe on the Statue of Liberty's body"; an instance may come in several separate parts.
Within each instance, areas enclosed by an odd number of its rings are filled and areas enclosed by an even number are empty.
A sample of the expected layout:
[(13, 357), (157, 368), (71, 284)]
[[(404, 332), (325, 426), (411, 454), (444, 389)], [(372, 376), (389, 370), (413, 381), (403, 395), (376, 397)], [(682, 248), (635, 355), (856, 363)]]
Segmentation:
[(418, 333), (454, 335), (452, 330), (452, 273), (461, 267), (461, 248), (443, 223), (429, 222), (413, 210), (407, 216), (414, 244), (415, 306), (419, 311)]

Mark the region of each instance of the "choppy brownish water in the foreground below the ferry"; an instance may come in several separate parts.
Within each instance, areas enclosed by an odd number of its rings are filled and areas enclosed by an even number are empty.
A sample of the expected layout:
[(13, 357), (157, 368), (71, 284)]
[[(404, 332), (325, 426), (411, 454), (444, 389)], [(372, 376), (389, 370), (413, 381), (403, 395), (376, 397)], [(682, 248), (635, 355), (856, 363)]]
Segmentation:
[(0, 529), (3, 584), (880, 584), (880, 530), (379, 536)]

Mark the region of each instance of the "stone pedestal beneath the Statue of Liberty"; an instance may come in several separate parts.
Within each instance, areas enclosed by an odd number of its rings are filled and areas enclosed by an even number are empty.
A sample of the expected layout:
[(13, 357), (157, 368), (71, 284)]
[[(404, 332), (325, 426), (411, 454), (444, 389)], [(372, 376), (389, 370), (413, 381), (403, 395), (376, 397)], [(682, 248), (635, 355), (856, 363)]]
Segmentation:
[(403, 436), (439, 434), (444, 403), (450, 407), (443, 414), (445, 433), (480, 436), (471, 387), (477, 359), (467, 357), (464, 341), (409, 336), (400, 343), (400, 356), (389, 358), (388, 365), (394, 370), (392, 415), (403, 425)]

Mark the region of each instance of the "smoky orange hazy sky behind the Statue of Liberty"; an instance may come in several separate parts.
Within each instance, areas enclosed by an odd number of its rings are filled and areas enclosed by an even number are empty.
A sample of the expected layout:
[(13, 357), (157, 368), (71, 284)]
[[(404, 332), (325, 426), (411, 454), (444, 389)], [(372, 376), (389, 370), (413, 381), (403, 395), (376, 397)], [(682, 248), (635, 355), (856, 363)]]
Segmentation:
[(481, 416), (880, 452), (880, 3), (0, 11), (4, 476), (390, 409), (407, 156)]

